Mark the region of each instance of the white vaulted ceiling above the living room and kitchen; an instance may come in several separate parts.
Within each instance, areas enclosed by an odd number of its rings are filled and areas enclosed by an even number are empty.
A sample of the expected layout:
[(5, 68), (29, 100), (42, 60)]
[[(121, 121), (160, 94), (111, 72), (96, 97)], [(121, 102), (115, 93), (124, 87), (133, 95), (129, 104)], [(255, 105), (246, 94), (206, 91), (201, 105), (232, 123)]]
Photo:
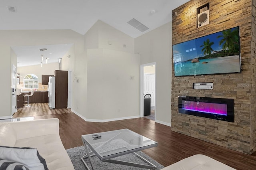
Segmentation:
[[(172, 10), (188, 1), (1, 0), (0, 30), (71, 29), (84, 35), (97, 20), (101, 20), (132, 38), (136, 38), (170, 22), (172, 20)], [(8, 6), (15, 7), (16, 12), (9, 12)], [(152, 12), (152, 10), (155, 12)], [(144, 24), (149, 30), (142, 33), (127, 24), (132, 18)], [(57, 46), (63, 47), (65, 45)], [(26, 50), (20, 50), (19, 47), (16, 47), (14, 51), (19, 58), (26, 55), (24, 52), (27, 52), (29, 48), (33, 49), (33, 46), (27, 47)], [(37, 50), (39, 48), (35, 47)]]

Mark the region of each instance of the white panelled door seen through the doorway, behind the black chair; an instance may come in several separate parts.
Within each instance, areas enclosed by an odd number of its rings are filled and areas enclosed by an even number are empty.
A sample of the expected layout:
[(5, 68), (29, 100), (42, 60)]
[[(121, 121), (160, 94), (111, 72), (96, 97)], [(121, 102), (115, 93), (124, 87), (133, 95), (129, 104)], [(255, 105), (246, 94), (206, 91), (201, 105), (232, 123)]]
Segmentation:
[(154, 74), (144, 74), (144, 95), (151, 95), (150, 106), (155, 106), (155, 75)]

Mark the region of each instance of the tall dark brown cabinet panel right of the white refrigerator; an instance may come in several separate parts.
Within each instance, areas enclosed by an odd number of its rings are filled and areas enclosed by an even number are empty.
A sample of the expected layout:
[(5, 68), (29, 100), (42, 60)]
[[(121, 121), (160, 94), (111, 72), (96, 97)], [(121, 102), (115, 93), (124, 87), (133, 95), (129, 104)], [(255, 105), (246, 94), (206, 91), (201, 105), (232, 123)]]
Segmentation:
[(68, 71), (55, 70), (55, 108), (68, 107)]

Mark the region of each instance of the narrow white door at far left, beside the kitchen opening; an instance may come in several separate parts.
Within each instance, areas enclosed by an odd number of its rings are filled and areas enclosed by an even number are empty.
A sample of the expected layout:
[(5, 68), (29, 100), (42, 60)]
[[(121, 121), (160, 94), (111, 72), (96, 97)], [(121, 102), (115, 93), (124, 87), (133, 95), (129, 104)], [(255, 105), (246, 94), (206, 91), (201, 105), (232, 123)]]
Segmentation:
[(16, 104), (17, 104), (17, 100), (16, 100), (16, 79), (17, 79), (17, 74), (16, 74), (16, 66), (12, 65), (12, 114), (11, 116), (17, 112), (16, 109)]

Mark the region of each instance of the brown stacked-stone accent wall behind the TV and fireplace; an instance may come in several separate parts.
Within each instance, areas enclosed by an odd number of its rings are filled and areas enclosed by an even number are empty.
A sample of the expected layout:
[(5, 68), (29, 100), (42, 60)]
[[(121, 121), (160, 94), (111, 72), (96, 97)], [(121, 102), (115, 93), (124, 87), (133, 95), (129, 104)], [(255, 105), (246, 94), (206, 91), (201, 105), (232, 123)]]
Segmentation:
[[(242, 62), (236, 74), (174, 77), (172, 68), (173, 131), (246, 154), (256, 150), (255, 1), (191, 0), (172, 11), (172, 44), (240, 26)], [(210, 24), (197, 28), (196, 9), (207, 3)], [(201, 82), (213, 82), (213, 90), (192, 89)], [(178, 113), (179, 95), (234, 99), (234, 123)]]

